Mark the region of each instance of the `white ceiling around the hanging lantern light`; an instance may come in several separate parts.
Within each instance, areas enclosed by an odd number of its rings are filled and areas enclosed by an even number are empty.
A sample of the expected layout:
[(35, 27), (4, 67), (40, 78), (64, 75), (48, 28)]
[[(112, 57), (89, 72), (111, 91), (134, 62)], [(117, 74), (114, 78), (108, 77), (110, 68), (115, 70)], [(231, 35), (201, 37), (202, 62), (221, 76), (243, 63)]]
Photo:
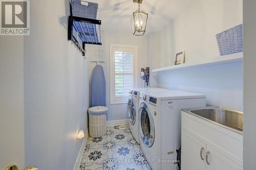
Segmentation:
[[(102, 30), (131, 33), (131, 16), (137, 10), (133, 0), (88, 0), (99, 4)], [(148, 13), (146, 34), (157, 32), (195, 0), (143, 0), (141, 10)]]

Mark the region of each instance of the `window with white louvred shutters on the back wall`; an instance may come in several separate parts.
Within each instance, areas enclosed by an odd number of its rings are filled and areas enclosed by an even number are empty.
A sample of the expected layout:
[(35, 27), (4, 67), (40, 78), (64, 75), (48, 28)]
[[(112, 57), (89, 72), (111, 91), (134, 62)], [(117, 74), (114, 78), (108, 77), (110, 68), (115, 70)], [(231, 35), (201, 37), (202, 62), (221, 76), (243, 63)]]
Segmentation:
[(111, 104), (127, 103), (129, 89), (137, 86), (137, 46), (110, 44)]

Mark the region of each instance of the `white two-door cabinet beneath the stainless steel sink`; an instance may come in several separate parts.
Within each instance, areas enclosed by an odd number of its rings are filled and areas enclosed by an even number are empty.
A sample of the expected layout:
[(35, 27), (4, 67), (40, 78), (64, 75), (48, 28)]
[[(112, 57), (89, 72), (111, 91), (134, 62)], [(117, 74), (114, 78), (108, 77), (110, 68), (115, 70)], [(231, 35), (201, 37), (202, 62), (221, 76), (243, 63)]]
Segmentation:
[(243, 135), (182, 111), (182, 170), (242, 170)]

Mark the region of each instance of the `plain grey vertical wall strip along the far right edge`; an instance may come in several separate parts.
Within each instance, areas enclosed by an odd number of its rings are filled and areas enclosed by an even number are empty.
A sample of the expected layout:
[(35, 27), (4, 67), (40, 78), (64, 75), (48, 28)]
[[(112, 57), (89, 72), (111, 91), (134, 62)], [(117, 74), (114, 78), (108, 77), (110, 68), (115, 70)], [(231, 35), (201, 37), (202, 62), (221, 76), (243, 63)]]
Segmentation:
[(244, 0), (244, 169), (256, 167), (256, 1)]

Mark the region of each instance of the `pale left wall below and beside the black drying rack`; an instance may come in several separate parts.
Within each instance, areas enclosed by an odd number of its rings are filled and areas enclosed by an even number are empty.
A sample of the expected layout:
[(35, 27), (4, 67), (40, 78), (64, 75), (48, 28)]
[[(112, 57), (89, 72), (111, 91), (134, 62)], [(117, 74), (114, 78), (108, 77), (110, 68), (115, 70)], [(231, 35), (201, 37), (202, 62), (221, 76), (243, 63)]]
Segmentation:
[(87, 130), (88, 61), (67, 40), (69, 1), (30, 1), (25, 37), (25, 161), (39, 169), (73, 169)]

